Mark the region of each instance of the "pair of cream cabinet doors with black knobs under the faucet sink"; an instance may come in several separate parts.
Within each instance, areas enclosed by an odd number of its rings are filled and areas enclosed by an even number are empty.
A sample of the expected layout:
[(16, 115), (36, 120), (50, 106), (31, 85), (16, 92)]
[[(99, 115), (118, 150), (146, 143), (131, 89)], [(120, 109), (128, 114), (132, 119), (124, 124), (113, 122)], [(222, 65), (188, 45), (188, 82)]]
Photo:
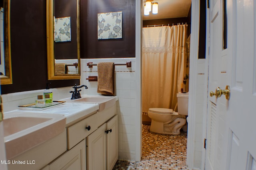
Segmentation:
[(86, 138), (87, 170), (112, 170), (118, 160), (118, 119), (101, 125)]

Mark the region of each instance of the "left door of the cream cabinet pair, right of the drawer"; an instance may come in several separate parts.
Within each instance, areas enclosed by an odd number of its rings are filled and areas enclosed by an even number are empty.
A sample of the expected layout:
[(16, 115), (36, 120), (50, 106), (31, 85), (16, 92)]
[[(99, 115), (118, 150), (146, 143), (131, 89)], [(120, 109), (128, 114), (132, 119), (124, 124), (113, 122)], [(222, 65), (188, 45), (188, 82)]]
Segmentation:
[(87, 170), (106, 169), (106, 123), (86, 138)]

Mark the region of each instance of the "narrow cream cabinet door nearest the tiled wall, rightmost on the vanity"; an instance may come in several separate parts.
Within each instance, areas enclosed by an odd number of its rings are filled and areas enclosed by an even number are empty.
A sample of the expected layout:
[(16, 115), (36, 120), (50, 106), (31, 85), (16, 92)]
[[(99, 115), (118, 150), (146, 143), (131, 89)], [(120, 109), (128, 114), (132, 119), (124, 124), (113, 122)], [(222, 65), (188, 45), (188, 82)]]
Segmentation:
[(112, 170), (118, 160), (118, 119), (115, 115), (107, 122), (107, 170)]

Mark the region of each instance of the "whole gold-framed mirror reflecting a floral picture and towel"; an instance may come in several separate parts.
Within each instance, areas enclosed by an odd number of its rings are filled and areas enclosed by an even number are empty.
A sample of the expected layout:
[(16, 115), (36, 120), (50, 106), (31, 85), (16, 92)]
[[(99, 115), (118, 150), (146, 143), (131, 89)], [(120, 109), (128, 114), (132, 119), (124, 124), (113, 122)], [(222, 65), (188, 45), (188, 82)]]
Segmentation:
[[(48, 80), (80, 79), (79, 0), (64, 0), (65, 2), (63, 3), (60, 3), (60, 1), (61, 0), (46, 0)], [(73, 4), (70, 5), (66, 2)], [(61, 9), (63, 9), (63, 5), (69, 7), (73, 5), (76, 10), (71, 11), (73, 11), (73, 13), (76, 11), (76, 13), (73, 14), (73, 16), (58, 14), (57, 7), (59, 7), (60, 4), (62, 5)], [(62, 13), (63, 11), (64, 10), (62, 10)], [(59, 23), (57, 21), (63, 21), (64, 18), (69, 18), (69, 21), (64, 23), (66, 27), (62, 26), (64, 29), (59, 29)], [(67, 35), (69, 39), (58, 38), (61, 34)], [(66, 54), (70, 52), (72, 52), (72, 54)]]

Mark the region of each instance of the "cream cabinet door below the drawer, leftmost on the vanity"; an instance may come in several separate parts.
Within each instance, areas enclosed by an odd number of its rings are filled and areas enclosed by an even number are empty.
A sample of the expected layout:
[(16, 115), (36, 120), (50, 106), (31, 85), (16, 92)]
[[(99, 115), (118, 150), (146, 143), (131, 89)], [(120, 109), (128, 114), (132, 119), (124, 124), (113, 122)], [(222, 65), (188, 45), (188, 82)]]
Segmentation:
[(86, 170), (85, 139), (52, 162), (49, 170)]

